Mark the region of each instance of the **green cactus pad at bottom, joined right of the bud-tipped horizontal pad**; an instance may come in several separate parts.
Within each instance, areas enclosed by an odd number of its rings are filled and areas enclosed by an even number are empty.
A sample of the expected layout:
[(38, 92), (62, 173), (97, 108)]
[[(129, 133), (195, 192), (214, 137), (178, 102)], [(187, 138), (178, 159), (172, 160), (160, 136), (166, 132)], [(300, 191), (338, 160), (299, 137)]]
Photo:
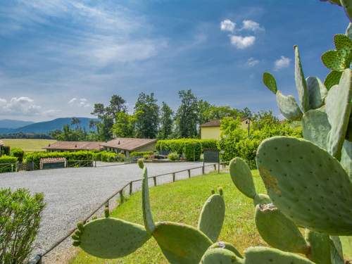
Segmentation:
[(157, 222), (153, 237), (171, 264), (199, 263), (213, 244), (200, 230), (176, 222)]

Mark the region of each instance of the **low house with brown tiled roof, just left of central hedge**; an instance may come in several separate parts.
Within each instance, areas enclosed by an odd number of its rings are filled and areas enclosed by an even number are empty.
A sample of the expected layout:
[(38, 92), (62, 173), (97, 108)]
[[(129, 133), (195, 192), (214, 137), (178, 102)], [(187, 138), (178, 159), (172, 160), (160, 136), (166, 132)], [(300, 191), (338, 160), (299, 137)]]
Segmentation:
[(113, 151), (115, 153), (123, 153), (129, 156), (133, 151), (155, 151), (156, 139), (135, 139), (120, 137), (102, 143), (103, 149), (106, 151)]

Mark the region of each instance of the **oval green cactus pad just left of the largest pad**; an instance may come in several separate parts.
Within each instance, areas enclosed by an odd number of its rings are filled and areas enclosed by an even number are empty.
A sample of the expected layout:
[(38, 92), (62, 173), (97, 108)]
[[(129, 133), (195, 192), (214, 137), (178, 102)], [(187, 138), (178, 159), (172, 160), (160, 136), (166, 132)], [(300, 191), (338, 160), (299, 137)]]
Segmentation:
[(253, 176), (246, 161), (237, 157), (230, 161), (230, 175), (234, 185), (242, 194), (254, 199), (256, 187), (254, 186)]

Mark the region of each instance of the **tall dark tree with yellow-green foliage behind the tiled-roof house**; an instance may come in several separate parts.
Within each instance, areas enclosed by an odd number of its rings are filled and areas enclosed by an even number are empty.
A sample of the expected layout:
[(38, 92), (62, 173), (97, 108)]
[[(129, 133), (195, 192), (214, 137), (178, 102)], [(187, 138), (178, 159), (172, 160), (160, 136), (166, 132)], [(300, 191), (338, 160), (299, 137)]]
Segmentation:
[(154, 139), (158, 134), (159, 106), (154, 94), (139, 94), (134, 105), (136, 115), (136, 137)]

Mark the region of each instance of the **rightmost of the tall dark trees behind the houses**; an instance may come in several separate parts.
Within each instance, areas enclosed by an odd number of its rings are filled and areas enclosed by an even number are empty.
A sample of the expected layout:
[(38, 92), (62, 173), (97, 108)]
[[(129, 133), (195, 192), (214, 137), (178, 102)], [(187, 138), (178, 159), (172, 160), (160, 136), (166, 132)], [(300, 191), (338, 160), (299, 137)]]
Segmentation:
[(197, 137), (198, 104), (191, 89), (178, 92), (181, 104), (176, 113), (176, 127), (179, 137)]

